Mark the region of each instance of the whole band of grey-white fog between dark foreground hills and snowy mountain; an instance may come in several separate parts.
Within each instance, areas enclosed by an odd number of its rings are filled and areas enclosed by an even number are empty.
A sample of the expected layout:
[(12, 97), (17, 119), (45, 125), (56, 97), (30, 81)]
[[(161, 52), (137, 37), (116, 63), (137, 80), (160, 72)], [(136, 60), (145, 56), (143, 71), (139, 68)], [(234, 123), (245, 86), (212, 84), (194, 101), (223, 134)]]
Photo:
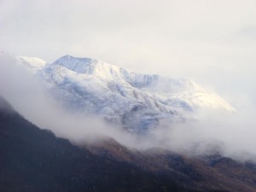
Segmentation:
[[(81, 118), (68, 113), (49, 95), (44, 85), (15, 66), (11, 56), (2, 54), (0, 61), (0, 95), (26, 119), (73, 143), (113, 137), (132, 148), (169, 148), (180, 153), (207, 154), (212, 150), (239, 160), (256, 160), (256, 135), (253, 110), (238, 113), (208, 113), (198, 120), (170, 124), (163, 121), (148, 137), (137, 137), (119, 127), (106, 124), (96, 116)], [(239, 102), (239, 101), (237, 101)]]

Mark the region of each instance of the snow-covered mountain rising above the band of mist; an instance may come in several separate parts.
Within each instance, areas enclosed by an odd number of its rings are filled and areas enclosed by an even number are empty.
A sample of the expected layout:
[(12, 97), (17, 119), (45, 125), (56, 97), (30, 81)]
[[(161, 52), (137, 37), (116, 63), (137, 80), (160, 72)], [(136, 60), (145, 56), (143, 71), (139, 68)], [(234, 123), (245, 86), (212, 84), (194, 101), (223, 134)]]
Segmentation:
[(200, 110), (235, 109), (189, 79), (133, 73), (90, 58), (62, 56), (52, 64), (16, 57), (73, 113), (96, 114), (142, 134), (160, 119), (186, 121)]

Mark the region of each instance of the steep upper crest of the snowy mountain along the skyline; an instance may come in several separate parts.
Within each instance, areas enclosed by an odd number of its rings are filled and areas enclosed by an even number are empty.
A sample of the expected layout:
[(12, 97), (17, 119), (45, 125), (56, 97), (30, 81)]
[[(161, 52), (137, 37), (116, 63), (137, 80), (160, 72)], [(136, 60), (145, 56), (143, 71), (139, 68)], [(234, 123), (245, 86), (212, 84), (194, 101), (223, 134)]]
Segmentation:
[(189, 79), (171, 79), (156, 74), (133, 73), (128, 69), (116, 67), (96, 59), (65, 55), (56, 60), (53, 65), (66, 67), (75, 73), (94, 75), (100, 79), (123, 81), (137, 88), (150, 87), (150, 89), (162, 93), (181, 89), (202, 90), (200, 86)]

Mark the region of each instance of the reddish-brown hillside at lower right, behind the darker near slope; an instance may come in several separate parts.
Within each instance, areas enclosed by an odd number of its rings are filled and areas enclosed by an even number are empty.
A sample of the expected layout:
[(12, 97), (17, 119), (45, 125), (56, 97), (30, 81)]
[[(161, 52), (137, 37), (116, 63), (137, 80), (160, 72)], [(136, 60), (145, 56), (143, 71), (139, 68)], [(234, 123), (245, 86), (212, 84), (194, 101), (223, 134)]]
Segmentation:
[(162, 148), (146, 151), (125, 148), (113, 139), (86, 144), (92, 154), (128, 162), (150, 172), (165, 173), (186, 188), (199, 191), (256, 191), (254, 164), (240, 163), (219, 154), (188, 157)]

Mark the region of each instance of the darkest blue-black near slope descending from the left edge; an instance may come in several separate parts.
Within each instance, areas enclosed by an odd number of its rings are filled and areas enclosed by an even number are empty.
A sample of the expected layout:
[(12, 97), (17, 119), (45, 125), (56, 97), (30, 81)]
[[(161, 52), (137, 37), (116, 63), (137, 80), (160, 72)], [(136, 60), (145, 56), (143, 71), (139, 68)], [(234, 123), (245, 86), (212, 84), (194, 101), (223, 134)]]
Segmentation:
[[(1, 100), (3, 103), (3, 100)], [(164, 174), (97, 157), (0, 110), (0, 191), (190, 191)]]

